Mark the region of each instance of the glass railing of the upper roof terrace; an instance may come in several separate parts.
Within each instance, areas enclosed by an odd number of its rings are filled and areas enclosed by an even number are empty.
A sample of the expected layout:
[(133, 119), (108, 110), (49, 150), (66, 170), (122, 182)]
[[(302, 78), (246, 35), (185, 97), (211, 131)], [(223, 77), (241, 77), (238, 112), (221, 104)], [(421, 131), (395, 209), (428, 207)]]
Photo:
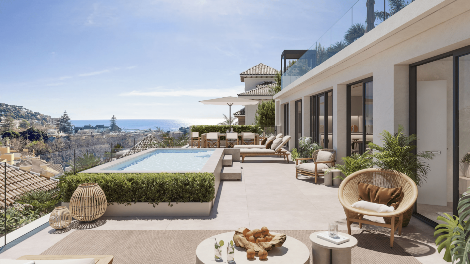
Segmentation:
[[(414, 0), (410, 0), (412, 2)], [(281, 75), (281, 89), (340, 52), (407, 6), (398, 0), (358, 0)]]

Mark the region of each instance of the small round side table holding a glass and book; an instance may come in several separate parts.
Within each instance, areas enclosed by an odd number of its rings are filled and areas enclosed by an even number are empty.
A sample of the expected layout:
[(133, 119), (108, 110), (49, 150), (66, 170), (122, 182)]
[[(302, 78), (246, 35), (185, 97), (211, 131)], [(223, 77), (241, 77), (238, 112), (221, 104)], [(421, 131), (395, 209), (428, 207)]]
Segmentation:
[(358, 240), (345, 233), (339, 232), (339, 235), (349, 238), (348, 242), (336, 245), (335, 243), (326, 241), (317, 237), (319, 231), (310, 235), (312, 242), (312, 253), (314, 264), (351, 264), (351, 249), (356, 247)]

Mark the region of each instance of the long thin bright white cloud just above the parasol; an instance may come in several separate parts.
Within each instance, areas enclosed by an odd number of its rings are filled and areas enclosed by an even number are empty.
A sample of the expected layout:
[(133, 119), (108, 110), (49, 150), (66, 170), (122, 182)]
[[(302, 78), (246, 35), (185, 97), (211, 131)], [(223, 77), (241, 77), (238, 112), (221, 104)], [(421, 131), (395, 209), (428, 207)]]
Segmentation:
[(180, 97), (180, 96), (193, 96), (193, 97), (226, 97), (236, 96), (238, 93), (243, 92), (244, 86), (237, 86), (232, 88), (221, 89), (194, 89), (194, 90), (175, 90), (175, 89), (159, 89), (157, 91), (131, 91), (128, 93), (121, 93), (120, 96), (151, 96), (151, 97)]

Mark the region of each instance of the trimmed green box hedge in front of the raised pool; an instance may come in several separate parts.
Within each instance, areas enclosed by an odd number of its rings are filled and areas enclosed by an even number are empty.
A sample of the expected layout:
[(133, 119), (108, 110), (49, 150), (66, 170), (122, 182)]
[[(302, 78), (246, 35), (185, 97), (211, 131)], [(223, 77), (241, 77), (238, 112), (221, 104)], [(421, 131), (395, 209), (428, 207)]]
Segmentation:
[(108, 203), (210, 202), (215, 198), (213, 173), (78, 173), (60, 180), (64, 201), (82, 183), (97, 183)]

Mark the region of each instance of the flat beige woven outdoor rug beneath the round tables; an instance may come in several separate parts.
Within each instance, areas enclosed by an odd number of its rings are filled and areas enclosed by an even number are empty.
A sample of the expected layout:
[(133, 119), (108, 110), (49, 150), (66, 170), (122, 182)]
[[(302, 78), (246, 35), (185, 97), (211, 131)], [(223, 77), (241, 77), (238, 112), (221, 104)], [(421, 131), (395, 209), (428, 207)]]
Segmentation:
[[(200, 242), (208, 237), (233, 230), (77, 230), (42, 254), (107, 254), (114, 255), (113, 264), (193, 264)], [(294, 237), (310, 250), (311, 233), (321, 230), (272, 230)], [(347, 233), (347, 231), (341, 231)], [(377, 233), (353, 230), (358, 245), (352, 250), (355, 264), (419, 264), (420, 262), (396, 242)]]

